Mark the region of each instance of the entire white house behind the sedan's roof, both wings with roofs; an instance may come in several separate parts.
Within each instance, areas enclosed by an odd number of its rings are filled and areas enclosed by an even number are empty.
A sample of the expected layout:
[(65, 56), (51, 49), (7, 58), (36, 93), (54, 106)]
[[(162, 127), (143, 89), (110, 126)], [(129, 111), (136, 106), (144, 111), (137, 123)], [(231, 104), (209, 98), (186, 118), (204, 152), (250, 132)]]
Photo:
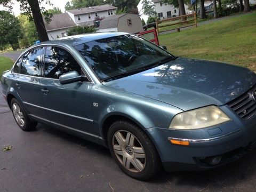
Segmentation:
[(95, 17), (107, 18), (113, 16), (116, 9), (117, 7), (111, 5), (99, 5), (54, 14), (50, 23), (44, 20), (48, 37), (52, 40), (67, 36), (66, 31), (78, 25), (93, 26)]

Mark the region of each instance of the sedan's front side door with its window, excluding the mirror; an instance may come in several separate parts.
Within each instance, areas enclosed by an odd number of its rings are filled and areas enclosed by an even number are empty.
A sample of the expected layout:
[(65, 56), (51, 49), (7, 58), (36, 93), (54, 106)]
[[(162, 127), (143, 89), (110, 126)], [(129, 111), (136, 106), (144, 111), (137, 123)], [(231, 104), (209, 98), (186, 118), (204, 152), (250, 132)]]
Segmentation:
[(92, 136), (99, 135), (93, 129), (90, 91), (92, 82), (59, 83), (59, 77), (70, 71), (84, 74), (74, 57), (58, 46), (48, 46), (44, 58), (44, 78), (42, 79), (43, 101), (52, 124), (71, 131)]

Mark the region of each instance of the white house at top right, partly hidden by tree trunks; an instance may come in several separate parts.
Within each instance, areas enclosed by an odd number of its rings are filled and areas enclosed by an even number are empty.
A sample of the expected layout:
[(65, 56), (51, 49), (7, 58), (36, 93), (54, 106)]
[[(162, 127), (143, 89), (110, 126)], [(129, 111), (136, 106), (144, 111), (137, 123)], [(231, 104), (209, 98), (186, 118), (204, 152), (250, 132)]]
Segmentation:
[[(147, 22), (148, 15), (143, 14), (142, 2), (143, 2), (143, 0), (140, 0), (137, 8), (141, 15), (141, 19), (143, 19), (145, 22)], [(148, 2), (151, 4), (154, 4), (155, 11), (157, 12), (157, 17), (161, 20), (166, 19), (166, 18), (176, 17), (179, 15), (179, 8), (174, 7), (173, 5), (165, 4), (161, 0), (148, 0)], [(186, 11), (186, 13), (189, 12), (188, 6), (186, 4), (185, 4), (185, 11)]]

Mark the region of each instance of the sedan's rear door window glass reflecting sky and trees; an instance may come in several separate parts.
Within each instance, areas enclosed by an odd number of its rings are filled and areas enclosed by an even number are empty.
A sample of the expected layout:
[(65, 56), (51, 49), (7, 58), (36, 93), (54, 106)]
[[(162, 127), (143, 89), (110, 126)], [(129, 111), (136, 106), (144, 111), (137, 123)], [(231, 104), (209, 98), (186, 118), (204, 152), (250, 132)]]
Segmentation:
[(23, 55), (23, 60), (20, 66), (20, 74), (40, 76), (40, 58), (43, 54), (43, 47), (37, 47)]

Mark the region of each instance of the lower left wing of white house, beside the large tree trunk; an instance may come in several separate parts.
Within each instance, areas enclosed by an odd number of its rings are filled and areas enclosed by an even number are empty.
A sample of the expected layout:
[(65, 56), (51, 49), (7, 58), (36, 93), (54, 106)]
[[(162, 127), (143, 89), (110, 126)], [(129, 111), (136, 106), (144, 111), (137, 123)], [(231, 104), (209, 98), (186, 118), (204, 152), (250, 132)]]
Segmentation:
[(69, 17), (68, 13), (54, 14), (51, 22), (45, 22), (45, 28), (50, 40), (67, 36), (66, 31), (76, 26), (76, 23)]

